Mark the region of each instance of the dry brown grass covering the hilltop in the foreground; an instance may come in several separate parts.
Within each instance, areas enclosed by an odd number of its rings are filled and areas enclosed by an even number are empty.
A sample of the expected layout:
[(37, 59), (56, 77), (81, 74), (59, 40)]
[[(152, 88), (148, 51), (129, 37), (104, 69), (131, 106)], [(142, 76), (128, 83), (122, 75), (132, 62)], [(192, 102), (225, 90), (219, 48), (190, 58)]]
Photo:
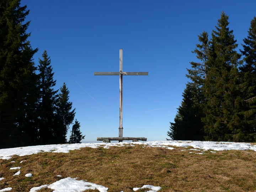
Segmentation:
[[(65, 177), (79, 177), (108, 187), (108, 192), (130, 192), (143, 185), (161, 186), (161, 192), (256, 191), (255, 151), (198, 152), (135, 145), (13, 156), (10, 160), (0, 159), (0, 177), (5, 177), (0, 181), (0, 190), (12, 187), (11, 192), (28, 192)], [(26, 161), (20, 163), (22, 160)], [(13, 176), (18, 170), (10, 168), (17, 166), (22, 167), (21, 174)], [(25, 177), (27, 173), (33, 177)], [(42, 191), (53, 190), (38, 192)]]

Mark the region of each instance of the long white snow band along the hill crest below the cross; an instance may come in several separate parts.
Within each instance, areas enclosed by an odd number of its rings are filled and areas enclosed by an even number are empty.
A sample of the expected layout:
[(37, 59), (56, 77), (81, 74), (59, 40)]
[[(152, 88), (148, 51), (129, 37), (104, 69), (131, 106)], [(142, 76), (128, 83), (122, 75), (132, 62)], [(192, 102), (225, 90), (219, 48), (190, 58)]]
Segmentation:
[[(77, 144), (58, 144), (58, 145), (37, 145), (27, 146), (22, 148), (10, 148), (0, 149), (1, 159), (10, 159), (12, 155), (24, 156), (37, 154), (42, 152), (52, 153), (69, 153), (70, 150), (80, 149), (84, 147), (90, 148), (110, 148), (111, 146), (125, 146), (134, 145), (135, 142), (120, 142), (120, 143), (77, 143)], [(188, 147), (191, 146), (194, 149), (200, 150), (254, 150), (256, 151), (256, 145), (252, 146), (250, 143), (235, 143), (235, 142), (201, 142), (201, 141), (154, 141), (154, 142), (136, 142), (136, 144), (150, 147), (164, 147), (167, 149), (173, 149), (170, 146)]]

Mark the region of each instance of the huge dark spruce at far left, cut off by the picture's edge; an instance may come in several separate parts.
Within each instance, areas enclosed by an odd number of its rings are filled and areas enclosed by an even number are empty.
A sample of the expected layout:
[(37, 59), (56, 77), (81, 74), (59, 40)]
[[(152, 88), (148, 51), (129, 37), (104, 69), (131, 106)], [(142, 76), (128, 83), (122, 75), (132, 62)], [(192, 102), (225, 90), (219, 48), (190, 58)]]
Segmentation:
[(37, 100), (36, 74), (25, 22), (29, 13), (20, 0), (0, 1), (0, 148), (30, 145), (36, 135), (31, 116)]

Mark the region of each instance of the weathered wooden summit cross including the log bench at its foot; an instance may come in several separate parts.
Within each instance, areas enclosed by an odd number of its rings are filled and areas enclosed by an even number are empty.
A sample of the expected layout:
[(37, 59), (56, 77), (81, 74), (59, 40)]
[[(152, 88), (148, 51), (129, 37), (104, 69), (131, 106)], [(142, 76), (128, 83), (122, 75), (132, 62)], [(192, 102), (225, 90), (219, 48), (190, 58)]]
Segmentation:
[(146, 138), (140, 137), (123, 137), (123, 75), (148, 75), (148, 72), (123, 72), (123, 49), (119, 49), (119, 72), (94, 72), (94, 75), (119, 75), (119, 137), (97, 137), (97, 141), (102, 141), (103, 139), (108, 140), (118, 140), (122, 142), (123, 140), (143, 140)]

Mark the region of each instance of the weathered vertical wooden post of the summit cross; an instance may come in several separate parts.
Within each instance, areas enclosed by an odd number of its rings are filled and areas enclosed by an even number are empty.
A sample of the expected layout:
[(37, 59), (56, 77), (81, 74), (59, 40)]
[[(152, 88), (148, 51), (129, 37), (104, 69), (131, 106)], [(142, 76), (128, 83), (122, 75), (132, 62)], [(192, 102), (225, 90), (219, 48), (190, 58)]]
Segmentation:
[[(120, 91), (120, 100), (119, 100), (119, 136), (123, 137), (123, 49), (119, 49), (119, 91)], [(122, 141), (119, 141), (122, 142)]]

